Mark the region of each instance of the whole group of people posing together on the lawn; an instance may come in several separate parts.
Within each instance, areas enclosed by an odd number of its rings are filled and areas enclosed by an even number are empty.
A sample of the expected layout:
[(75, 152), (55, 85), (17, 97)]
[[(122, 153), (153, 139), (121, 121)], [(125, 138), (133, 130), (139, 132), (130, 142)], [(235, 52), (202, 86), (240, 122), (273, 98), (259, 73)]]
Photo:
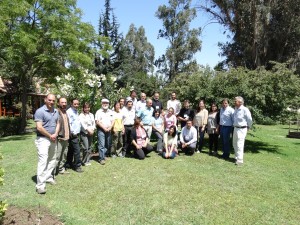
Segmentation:
[(203, 100), (196, 110), (190, 108), (189, 100), (184, 100), (181, 107), (175, 92), (171, 93), (164, 110), (159, 97), (159, 92), (155, 92), (152, 99), (141, 93), (140, 100), (137, 100), (133, 90), (130, 96), (120, 98), (113, 107), (104, 98), (94, 116), (89, 103), (83, 103), (79, 113), (78, 99), (72, 99), (67, 108), (67, 99), (61, 97), (56, 109), (55, 95), (48, 94), (45, 105), (34, 115), (38, 150), (37, 193), (46, 193), (46, 183), (55, 184), (56, 175), (68, 173), (68, 169), (80, 173), (83, 172), (82, 166), (91, 165), (95, 131), (101, 165), (105, 165), (107, 157), (144, 159), (153, 151), (151, 136), (157, 139), (156, 151), (163, 158), (175, 158), (178, 149), (187, 155), (200, 153), (205, 132), (209, 135), (209, 154), (218, 154), (220, 136), (224, 159), (229, 159), (233, 132), (236, 164), (243, 164), (244, 142), (252, 118), (242, 97), (235, 98), (235, 109), (229, 106), (228, 99), (223, 99), (220, 110), (216, 103), (212, 103), (209, 111)]

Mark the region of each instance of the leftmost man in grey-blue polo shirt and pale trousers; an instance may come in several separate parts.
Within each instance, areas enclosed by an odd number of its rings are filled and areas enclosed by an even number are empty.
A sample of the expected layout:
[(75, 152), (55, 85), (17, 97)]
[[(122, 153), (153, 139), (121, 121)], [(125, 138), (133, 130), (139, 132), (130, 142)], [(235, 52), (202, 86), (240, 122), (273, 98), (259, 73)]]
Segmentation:
[(37, 137), (35, 145), (38, 152), (37, 183), (38, 194), (46, 193), (46, 182), (55, 184), (52, 172), (55, 168), (56, 137), (59, 132), (58, 111), (54, 109), (55, 96), (48, 94), (45, 105), (34, 114)]

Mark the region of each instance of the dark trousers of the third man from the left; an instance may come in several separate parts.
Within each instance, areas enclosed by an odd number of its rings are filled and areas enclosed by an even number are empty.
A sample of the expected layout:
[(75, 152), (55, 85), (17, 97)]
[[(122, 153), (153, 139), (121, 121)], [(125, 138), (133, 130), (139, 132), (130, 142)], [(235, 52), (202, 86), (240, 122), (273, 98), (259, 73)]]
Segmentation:
[[(74, 160), (74, 161), (73, 161)], [(66, 164), (75, 169), (81, 166), (79, 138), (73, 137), (69, 139), (69, 147)]]

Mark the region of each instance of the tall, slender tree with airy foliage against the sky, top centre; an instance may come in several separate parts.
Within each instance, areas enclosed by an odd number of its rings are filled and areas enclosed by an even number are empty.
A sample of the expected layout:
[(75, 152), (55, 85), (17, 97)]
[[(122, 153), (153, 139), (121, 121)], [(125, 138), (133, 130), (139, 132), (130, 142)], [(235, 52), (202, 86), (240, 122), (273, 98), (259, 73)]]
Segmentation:
[(190, 23), (196, 17), (196, 10), (190, 5), (191, 0), (169, 0), (169, 6), (159, 6), (155, 14), (163, 22), (158, 37), (170, 43), (156, 65), (170, 80), (184, 72), (194, 54), (201, 49), (200, 28), (190, 29)]

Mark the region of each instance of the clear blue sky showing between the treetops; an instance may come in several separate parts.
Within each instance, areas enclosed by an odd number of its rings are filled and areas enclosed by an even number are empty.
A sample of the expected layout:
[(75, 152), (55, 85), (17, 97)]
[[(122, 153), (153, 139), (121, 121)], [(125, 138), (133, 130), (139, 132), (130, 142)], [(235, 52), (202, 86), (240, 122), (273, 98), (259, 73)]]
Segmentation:
[[(83, 21), (91, 23), (98, 31), (99, 15), (104, 11), (104, 0), (78, 0), (77, 7), (83, 11)], [(192, 6), (197, 3), (193, 0)], [(160, 5), (168, 5), (168, 0), (111, 0), (111, 7), (120, 24), (119, 32), (123, 36), (128, 32), (130, 24), (136, 28), (143, 26), (146, 37), (155, 48), (155, 58), (165, 53), (168, 42), (165, 39), (157, 39), (159, 29), (162, 29), (162, 21), (155, 17), (155, 12)], [(195, 58), (198, 64), (209, 65), (213, 68), (222, 58), (218, 55), (220, 49), (218, 42), (225, 42), (226, 35), (224, 29), (217, 23), (209, 23), (209, 16), (203, 12), (198, 12), (197, 18), (192, 22), (191, 27), (200, 27), (202, 34), (202, 49)]]

